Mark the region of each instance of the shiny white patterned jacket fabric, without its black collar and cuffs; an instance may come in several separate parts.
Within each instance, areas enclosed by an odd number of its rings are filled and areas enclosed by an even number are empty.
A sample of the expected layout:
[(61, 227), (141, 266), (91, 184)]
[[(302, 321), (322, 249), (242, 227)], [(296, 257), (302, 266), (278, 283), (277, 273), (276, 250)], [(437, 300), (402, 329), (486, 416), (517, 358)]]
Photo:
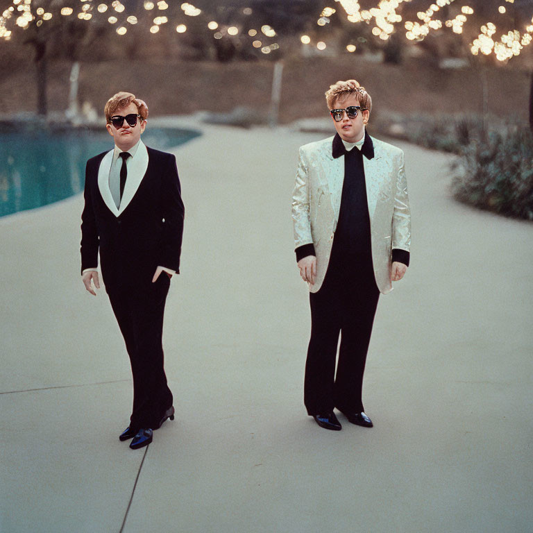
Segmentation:
[[(294, 246), (313, 244), (316, 253), (316, 280), (309, 284), (311, 292), (318, 291), (325, 278), (341, 208), (344, 155), (333, 157), (333, 138), (301, 146), (292, 196)], [(371, 140), (374, 157), (363, 157), (363, 164), (372, 261), (378, 289), (387, 294), (392, 290), (391, 250), (409, 252), (411, 246), (411, 212), (403, 151), (374, 137)]]

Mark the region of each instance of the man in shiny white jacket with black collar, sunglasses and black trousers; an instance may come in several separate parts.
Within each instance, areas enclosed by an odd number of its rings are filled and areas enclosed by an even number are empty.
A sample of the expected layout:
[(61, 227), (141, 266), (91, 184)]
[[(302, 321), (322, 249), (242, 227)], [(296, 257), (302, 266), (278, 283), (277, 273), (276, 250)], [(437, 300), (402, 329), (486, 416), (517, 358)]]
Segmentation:
[(409, 266), (404, 158), (366, 132), (372, 101), (357, 81), (339, 81), (325, 96), (337, 133), (301, 147), (292, 199), (311, 305), (304, 403), (322, 428), (341, 430), (334, 408), (371, 428), (362, 383), (375, 310)]

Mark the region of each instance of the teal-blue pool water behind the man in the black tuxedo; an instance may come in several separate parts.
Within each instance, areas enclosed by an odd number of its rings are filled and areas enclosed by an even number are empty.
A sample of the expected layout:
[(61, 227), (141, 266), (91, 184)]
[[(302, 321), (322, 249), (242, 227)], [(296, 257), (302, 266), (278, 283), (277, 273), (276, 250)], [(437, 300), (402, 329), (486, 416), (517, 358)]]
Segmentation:
[[(167, 150), (200, 133), (176, 128), (146, 129), (147, 146)], [(85, 163), (113, 147), (103, 130), (38, 127), (0, 133), (0, 217), (38, 208), (83, 191)], [(178, 167), (179, 170), (179, 167)]]

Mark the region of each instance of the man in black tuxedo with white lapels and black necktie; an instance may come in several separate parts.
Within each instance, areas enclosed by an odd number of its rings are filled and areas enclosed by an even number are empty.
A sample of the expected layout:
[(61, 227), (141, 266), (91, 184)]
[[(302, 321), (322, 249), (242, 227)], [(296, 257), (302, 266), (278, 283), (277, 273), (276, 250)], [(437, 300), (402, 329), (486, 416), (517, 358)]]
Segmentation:
[(115, 149), (87, 161), (81, 273), (85, 289), (96, 296), (100, 253), (133, 373), (133, 412), (119, 439), (133, 439), (130, 448), (136, 449), (151, 443), (167, 418), (174, 420), (162, 328), (170, 278), (179, 273), (184, 207), (175, 156), (141, 140), (146, 103), (119, 92), (104, 111)]

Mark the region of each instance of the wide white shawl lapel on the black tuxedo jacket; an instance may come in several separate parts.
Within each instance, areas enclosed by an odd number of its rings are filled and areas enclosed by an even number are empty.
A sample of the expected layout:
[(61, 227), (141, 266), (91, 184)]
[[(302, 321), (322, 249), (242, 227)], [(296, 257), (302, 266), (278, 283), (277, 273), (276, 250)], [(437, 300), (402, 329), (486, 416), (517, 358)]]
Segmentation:
[(103, 156), (100, 162), (100, 168), (98, 170), (98, 188), (105, 205), (115, 217), (119, 217), (124, 210), (128, 207), (128, 204), (132, 200), (133, 196), (137, 192), (139, 185), (141, 185), (142, 178), (146, 174), (148, 168), (148, 150), (142, 141), (139, 141), (137, 151), (133, 156), (130, 164), (128, 164), (128, 179), (126, 179), (126, 185), (124, 185), (124, 192), (122, 193), (122, 200), (120, 206), (117, 209), (115, 201), (113, 200), (111, 189), (109, 188), (109, 173), (111, 170), (111, 163), (113, 160), (114, 150), (109, 151)]

